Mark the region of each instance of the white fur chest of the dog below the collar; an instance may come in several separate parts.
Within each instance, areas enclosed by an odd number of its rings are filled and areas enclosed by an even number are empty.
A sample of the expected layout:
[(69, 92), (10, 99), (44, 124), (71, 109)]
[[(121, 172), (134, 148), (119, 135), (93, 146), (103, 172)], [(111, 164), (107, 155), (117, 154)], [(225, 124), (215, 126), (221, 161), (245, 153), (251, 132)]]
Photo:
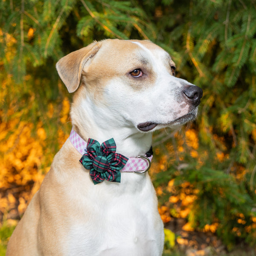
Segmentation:
[(146, 186), (134, 194), (91, 194), (87, 216), (70, 227), (68, 255), (160, 255), (163, 224), (154, 189)]

